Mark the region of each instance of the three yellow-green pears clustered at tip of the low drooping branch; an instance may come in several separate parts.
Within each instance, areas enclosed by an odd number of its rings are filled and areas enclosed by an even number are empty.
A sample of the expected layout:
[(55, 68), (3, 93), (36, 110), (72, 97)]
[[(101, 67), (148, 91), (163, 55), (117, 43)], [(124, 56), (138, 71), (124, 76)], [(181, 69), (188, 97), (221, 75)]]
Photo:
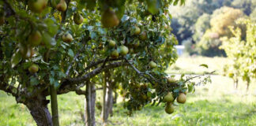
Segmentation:
[[(186, 102), (186, 95), (183, 92), (179, 93), (179, 96), (176, 98), (178, 103), (184, 104)], [(167, 95), (164, 96), (163, 102), (166, 102), (165, 113), (171, 114), (174, 112), (175, 108), (173, 106), (173, 102), (175, 98), (171, 92), (168, 92)]]

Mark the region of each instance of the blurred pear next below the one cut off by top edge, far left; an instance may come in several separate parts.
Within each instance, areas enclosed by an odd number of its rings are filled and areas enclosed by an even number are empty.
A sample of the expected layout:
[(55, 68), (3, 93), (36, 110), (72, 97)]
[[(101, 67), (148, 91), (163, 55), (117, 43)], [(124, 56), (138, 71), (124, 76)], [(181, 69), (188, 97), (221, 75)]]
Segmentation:
[(40, 31), (32, 31), (32, 34), (28, 36), (28, 43), (31, 46), (38, 46), (42, 41), (42, 35)]

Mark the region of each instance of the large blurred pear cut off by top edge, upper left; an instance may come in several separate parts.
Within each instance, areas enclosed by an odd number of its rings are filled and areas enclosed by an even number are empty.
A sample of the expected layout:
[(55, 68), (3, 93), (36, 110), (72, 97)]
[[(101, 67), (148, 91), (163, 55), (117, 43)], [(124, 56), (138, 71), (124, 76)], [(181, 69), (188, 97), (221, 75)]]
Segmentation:
[(28, 8), (34, 13), (42, 13), (43, 9), (47, 6), (48, 0), (29, 0)]

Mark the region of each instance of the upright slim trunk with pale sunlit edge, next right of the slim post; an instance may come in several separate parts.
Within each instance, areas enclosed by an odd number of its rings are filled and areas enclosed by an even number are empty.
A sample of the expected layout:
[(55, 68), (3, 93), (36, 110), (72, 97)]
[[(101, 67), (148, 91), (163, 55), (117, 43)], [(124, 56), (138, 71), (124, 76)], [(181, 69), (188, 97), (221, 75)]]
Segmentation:
[(96, 91), (92, 83), (86, 83), (85, 94), (85, 125), (95, 126), (95, 101)]

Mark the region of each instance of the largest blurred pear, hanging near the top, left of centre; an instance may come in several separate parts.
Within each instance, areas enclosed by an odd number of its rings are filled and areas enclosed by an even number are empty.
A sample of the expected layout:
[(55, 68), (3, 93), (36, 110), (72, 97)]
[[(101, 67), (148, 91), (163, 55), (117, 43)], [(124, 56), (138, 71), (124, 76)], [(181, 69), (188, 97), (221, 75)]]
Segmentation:
[(106, 9), (101, 15), (101, 24), (104, 28), (112, 28), (119, 25), (119, 18), (111, 9)]

